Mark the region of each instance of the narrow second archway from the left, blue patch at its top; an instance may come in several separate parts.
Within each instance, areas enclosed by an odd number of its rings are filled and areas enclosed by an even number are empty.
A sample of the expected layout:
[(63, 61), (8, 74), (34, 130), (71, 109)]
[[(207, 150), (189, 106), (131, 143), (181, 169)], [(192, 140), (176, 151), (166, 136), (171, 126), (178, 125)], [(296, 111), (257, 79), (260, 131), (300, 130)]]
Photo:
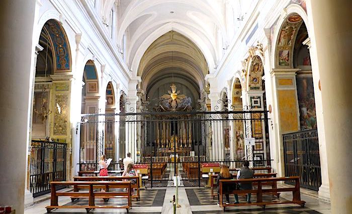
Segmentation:
[[(82, 77), (81, 114), (97, 114), (99, 111), (99, 81), (92, 60), (85, 63)], [(79, 171), (95, 171), (98, 160), (98, 116), (84, 117), (80, 128)]]

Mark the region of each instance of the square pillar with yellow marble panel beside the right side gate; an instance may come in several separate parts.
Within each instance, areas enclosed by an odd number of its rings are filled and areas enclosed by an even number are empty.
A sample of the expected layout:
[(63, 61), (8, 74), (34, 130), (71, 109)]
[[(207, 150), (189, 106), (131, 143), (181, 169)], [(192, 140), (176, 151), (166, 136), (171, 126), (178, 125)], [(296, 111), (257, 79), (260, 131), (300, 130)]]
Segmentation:
[(282, 134), (298, 131), (300, 129), (296, 72), (298, 69), (273, 69), (272, 87), (274, 92), (273, 109), (275, 111), (274, 121), (277, 130), (276, 145), (271, 143), (271, 149), (275, 150), (275, 161), (273, 168), (276, 169), (278, 176), (285, 176), (285, 161)]

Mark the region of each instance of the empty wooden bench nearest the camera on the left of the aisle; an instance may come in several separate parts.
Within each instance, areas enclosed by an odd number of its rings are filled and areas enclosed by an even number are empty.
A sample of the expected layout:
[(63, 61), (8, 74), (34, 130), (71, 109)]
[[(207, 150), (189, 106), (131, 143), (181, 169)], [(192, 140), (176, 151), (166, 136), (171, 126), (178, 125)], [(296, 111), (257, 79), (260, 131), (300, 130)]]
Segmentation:
[[(46, 207), (47, 212), (51, 212), (57, 208), (85, 208), (86, 212), (89, 212), (95, 208), (125, 208), (127, 212), (132, 206), (131, 203), (131, 182), (130, 181), (52, 181), (51, 184), (51, 199), (50, 206)], [(89, 186), (88, 192), (56, 192), (56, 186)], [(101, 192), (94, 191), (101, 187), (108, 188), (127, 188), (127, 191), (114, 191), (114, 192)], [(89, 198), (88, 205), (58, 205), (58, 196), (71, 196), (71, 197), (84, 197)], [(126, 205), (95, 205), (95, 198), (127, 198), (128, 202)]]

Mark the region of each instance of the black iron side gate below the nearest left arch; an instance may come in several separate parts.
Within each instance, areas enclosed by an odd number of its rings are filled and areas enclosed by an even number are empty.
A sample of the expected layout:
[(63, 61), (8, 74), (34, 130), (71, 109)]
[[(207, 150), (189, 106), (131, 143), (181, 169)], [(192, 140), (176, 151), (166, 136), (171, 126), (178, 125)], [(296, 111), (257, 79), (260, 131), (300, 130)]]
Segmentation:
[(33, 197), (49, 193), (51, 181), (65, 181), (66, 144), (32, 140), (29, 173)]

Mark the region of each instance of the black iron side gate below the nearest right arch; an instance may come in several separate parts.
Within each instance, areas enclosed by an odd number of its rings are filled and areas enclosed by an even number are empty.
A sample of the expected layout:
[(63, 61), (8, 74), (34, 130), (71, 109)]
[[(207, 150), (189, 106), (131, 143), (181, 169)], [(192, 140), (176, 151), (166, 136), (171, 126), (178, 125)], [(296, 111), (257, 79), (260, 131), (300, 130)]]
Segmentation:
[(317, 129), (283, 134), (285, 176), (300, 176), (301, 186), (319, 190), (321, 170)]

